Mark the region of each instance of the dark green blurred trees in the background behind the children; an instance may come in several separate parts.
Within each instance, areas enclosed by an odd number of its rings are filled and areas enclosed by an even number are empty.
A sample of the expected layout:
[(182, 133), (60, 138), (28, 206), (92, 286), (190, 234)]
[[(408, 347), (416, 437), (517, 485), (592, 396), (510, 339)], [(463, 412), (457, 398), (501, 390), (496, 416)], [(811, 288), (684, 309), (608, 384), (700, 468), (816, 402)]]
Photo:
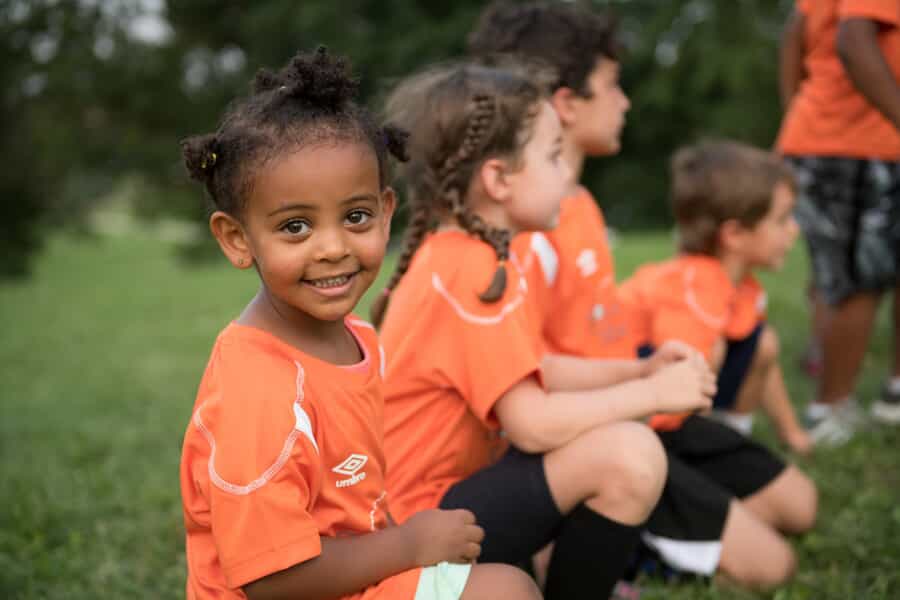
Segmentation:
[[(323, 43), (368, 99), (462, 53), (484, 2), (0, 0), (0, 276), (129, 182), (145, 218), (201, 218), (178, 141), (208, 131), (260, 66)], [(587, 183), (611, 224), (668, 219), (666, 162), (703, 136), (772, 143), (777, 42), (790, 0), (593, 0), (620, 19), (632, 108), (624, 150)]]

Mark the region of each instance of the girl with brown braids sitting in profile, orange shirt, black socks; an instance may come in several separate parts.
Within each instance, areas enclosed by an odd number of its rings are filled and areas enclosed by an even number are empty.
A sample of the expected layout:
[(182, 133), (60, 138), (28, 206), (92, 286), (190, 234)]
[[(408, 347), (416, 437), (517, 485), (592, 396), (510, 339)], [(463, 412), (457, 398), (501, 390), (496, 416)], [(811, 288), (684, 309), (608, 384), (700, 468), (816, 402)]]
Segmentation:
[(521, 562), (555, 540), (546, 597), (605, 598), (666, 474), (656, 436), (627, 421), (709, 406), (712, 375), (685, 360), (603, 390), (545, 389), (566, 378), (540, 372), (508, 243), (552, 227), (570, 191), (556, 113), (530, 79), (473, 65), (410, 79), (388, 113), (412, 132), (406, 243), (374, 307), (378, 322), (387, 304), (395, 514), (472, 510), (486, 562)]

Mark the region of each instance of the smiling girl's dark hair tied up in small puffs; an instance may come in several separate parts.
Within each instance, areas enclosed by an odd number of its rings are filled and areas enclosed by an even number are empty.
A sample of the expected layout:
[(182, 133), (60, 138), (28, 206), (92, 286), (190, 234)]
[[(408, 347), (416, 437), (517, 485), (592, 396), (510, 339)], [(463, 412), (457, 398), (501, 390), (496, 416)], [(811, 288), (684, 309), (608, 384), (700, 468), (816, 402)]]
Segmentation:
[(388, 154), (405, 160), (408, 136), (378, 127), (354, 103), (357, 89), (346, 61), (323, 46), (297, 54), (277, 72), (262, 69), (250, 96), (228, 109), (215, 133), (181, 142), (188, 173), (204, 184), (216, 209), (240, 218), (260, 168), (302, 147), (338, 141), (372, 148), (384, 186)]

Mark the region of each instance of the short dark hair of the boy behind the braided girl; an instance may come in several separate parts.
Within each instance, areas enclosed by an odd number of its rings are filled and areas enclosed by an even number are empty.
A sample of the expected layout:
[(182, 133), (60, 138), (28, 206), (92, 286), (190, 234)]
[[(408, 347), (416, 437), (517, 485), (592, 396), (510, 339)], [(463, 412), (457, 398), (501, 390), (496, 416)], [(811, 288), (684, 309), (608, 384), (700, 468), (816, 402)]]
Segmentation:
[(488, 6), (468, 37), (472, 56), (516, 54), (545, 62), (557, 73), (551, 90), (571, 88), (589, 98), (588, 77), (597, 59), (618, 60), (616, 23), (609, 16), (563, 2), (510, 2)]

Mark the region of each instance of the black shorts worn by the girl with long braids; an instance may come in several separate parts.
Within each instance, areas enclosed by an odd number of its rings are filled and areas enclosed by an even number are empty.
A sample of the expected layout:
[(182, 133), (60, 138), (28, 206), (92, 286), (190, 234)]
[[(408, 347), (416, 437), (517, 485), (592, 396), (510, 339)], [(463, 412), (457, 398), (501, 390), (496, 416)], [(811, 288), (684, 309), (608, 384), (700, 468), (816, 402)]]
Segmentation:
[(522, 564), (556, 538), (564, 515), (550, 494), (544, 455), (510, 447), (500, 460), (452, 485), (440, 508), (467, 508), (484, 528), (481, 562)]

